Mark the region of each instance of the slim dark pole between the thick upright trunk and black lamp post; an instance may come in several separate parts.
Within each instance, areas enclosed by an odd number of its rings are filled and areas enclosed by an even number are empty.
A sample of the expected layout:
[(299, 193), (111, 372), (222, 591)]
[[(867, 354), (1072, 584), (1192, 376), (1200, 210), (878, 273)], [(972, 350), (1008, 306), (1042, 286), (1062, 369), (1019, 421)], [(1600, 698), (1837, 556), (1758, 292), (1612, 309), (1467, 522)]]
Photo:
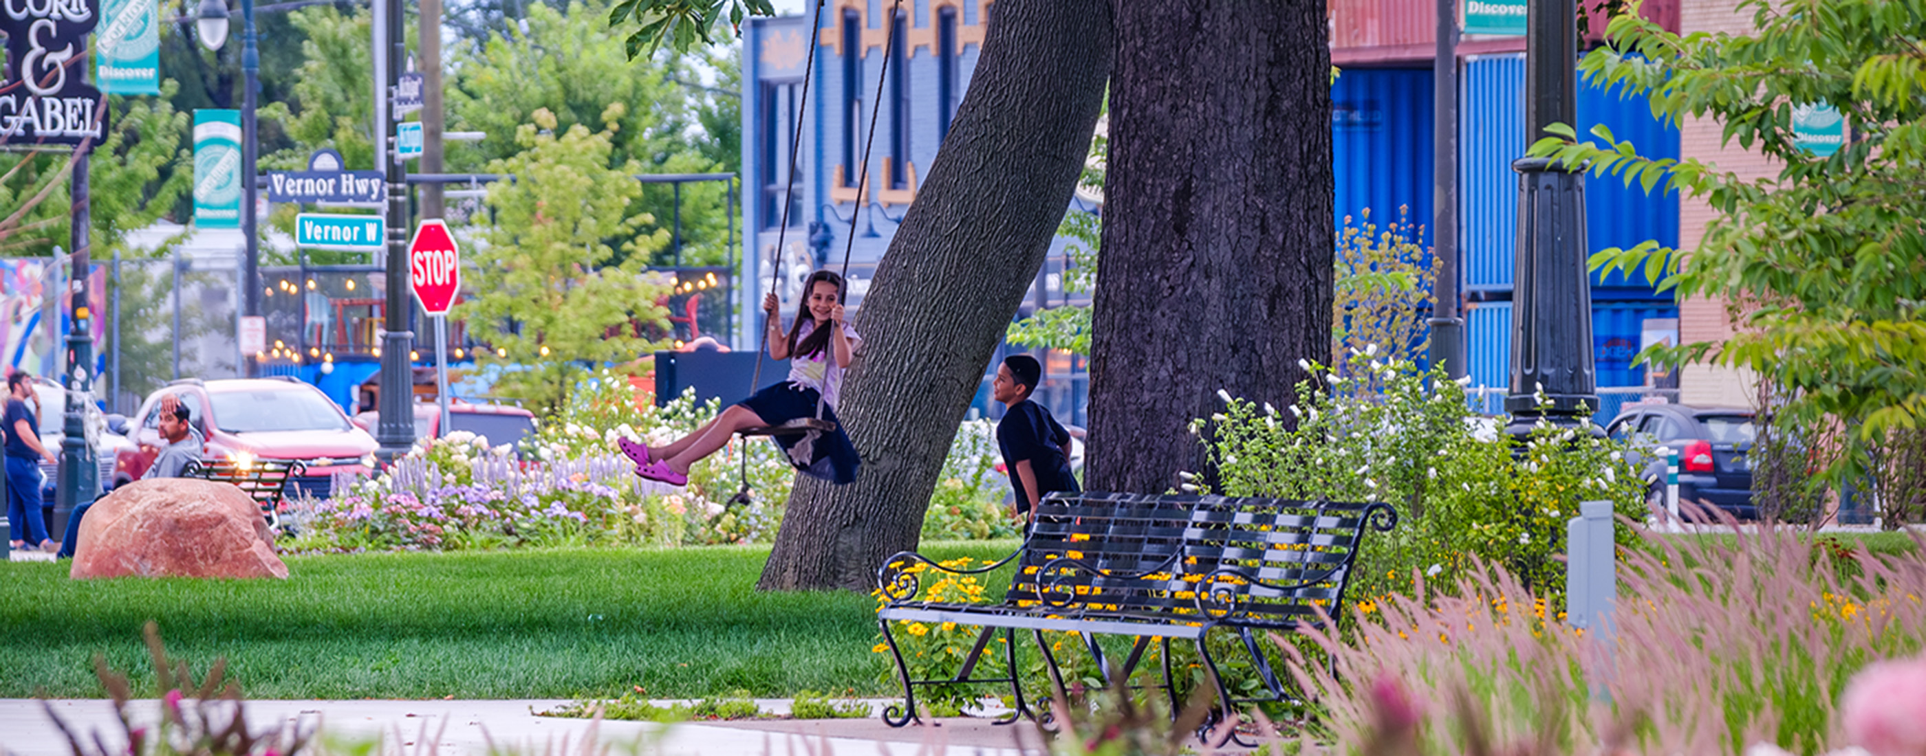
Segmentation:
[(1437, 0), (1437, 60), (1431, 63), (1431, 254), (1439, 260), (1431, 310), (1431, 364), (1464, 377), (1464, 317), (1458, 312), (1458, 8)]

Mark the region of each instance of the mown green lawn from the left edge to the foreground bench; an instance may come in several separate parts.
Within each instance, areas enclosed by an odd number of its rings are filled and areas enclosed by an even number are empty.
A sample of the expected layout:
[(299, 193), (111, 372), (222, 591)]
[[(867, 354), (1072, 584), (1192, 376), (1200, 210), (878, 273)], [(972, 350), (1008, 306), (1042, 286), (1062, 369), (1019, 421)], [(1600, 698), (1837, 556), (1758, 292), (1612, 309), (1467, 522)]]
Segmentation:
[(250, 698), (884, 693), (874, 600), (757, 592), (767, 558), (768, 546), (297, 556), (287, 581), (71, 581), (67, 564), (0, 564), (0, 696), (104, 696), (96, 652), (150, 685), (148, 619), (196, 675), (227, 658)]

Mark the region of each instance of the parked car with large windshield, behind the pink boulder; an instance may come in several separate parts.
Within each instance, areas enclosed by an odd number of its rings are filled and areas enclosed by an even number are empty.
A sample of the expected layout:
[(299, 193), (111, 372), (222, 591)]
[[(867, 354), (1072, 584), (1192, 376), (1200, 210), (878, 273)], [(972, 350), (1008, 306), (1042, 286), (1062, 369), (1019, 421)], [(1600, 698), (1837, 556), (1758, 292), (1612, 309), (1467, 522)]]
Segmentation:
[(273, 379), (181, 379), (141, 402), (135, 450), (121, 454), (116, 479), (135, 481), (154, 464), (160, 439), (160, 402), (179, 396), (187, 402), (195, 429), (206, 439), (204, 458), (299, 460), (306, 471), (287, 485), (289, 496), (325, 498), (335, 473), (374, 471), (376, 442), (368, 431), (349, 421), (347, 412), (320, 389), (293, 377)]

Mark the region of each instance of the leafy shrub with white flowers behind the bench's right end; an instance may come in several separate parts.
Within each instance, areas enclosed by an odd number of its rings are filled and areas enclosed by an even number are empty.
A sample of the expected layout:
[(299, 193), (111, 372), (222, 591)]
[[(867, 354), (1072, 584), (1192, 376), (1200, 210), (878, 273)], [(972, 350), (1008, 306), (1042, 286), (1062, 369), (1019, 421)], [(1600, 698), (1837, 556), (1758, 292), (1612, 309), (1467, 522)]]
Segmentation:
[[(1369, 344), (1350, 354), (1352, 377), (1306, 365), (1325, 387), (1298, 385), (1287, 408), (1294, 427), (1277, 408), (1223, 394), (1225, 410), (1194, 431), (1210, 433), (1217, 492), (1398, 508), (1396, 529), (1366, 539), (1346, 589), (1354, 604), (1410, 591), (1419, 575), (1452, 585), (1473, 560), (1504, 564), (1554, 598), (1564, 591), (1554, 554), (1581, 500), (1645, 516), (1643, 483), (1620, 441), (1541, 421), (1518, 442), (1473, 416), (1464, 387), (1443, 371), (1381, 358)], [(1618, 541), (1629, 544), (1631, 531)]]

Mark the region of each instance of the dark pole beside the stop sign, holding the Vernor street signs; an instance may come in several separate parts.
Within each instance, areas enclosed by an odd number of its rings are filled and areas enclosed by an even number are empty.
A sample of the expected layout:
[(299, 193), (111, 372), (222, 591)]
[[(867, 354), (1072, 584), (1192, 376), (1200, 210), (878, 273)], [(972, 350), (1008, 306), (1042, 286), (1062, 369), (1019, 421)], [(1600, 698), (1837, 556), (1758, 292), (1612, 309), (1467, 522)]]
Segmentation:
[[(385, 50), (376, 50), (387, 58), (387, 79), (379, 90), (393, 92), (401, 83), (401, 67), (408, 56), (408, 35), (403, 33), (401, 0), (376, 0), (376, 13), (385, 17)], [(387, 96), (376, 102), (376, 115), (383, 123)], [(395, 137), (393, 127), (376, 135), (376, 144), (385, 146)], [(399, 144), (397, 144), (399, 146)], [(408, 315), (414, 306), (408, 300), (408, 175), (406, 165), (395, 152), (377, 150), (387, 169), (387, 333), (381, 337), (381, 404), (374, 441), (381, 444), (379, 456), (395, 460), (414, 446), (414, 365), (408, 352), (414, 348), (414, 331), (408, 331)]]

